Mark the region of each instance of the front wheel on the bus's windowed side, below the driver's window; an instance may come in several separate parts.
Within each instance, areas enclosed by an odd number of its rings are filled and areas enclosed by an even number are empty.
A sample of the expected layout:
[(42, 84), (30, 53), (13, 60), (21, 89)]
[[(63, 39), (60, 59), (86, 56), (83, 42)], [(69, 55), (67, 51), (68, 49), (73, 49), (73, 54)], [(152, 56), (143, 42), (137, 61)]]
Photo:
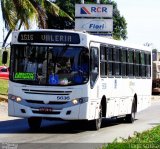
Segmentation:
[(99, 130), (102, 124), (102, 105), (99, 107), (99, 117), (91, 121), (91, 126), (93, 130)]

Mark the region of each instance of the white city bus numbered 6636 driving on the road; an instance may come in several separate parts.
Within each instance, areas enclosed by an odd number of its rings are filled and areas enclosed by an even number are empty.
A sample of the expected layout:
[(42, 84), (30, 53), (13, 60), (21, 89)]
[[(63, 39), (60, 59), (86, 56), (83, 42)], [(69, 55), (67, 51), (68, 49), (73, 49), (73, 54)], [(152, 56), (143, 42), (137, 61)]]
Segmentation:
[(86, 120), (124, 117), (150, 105), (151, 50), (84, 32), (15, 31), (12, 34), (8, 112), (28, 118)]

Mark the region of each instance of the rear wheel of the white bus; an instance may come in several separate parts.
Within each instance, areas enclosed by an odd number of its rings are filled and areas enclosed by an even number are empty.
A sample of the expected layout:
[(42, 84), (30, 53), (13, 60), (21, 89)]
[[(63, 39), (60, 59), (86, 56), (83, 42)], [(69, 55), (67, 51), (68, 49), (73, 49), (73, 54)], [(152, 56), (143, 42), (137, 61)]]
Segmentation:
[(132, 108), (131, 108), (131, 114), (127, 114), (125, 117), (125, 121), (127, 123), (133, 123), (135, 120), (135, 116), (136, 116), (136, 102), (135, 99), (132, 102)]

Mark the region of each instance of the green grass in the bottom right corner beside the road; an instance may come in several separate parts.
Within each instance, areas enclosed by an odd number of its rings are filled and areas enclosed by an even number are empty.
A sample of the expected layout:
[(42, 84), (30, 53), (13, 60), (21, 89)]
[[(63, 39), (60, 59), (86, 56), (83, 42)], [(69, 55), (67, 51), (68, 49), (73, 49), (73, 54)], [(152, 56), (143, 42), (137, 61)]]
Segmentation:
[(117, 140), (104, 145), (102, 149), (158, 149), (160, 148), (160, 125), (143, 133), (135, 132), (134, 137)]

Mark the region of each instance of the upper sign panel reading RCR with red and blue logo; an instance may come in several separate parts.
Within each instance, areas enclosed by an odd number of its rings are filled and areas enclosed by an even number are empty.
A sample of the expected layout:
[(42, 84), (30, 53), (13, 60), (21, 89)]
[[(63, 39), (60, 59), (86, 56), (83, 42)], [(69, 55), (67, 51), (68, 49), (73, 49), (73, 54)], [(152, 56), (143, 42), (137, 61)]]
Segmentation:
[(112, 18), (113, 6), (101, 4), (76, 4), (75, 17), (107, 17)]

